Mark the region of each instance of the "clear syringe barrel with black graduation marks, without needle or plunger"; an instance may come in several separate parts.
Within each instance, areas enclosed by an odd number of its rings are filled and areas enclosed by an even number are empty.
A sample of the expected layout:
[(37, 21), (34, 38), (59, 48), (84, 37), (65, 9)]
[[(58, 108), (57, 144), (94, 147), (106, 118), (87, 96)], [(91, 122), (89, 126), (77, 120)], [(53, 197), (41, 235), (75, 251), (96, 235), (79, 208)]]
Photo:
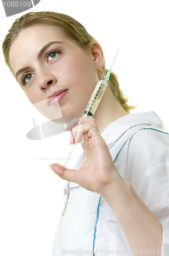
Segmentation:
[(99, 102), (101, 101), (101, 98), (103, 96), (103, 93), (106, 87), (107, 87), (107, 82), (105, 80), (98, 81), (82, 117), (86, 117), (86, 118), (93, 117), (96, 109), (98, 108)]

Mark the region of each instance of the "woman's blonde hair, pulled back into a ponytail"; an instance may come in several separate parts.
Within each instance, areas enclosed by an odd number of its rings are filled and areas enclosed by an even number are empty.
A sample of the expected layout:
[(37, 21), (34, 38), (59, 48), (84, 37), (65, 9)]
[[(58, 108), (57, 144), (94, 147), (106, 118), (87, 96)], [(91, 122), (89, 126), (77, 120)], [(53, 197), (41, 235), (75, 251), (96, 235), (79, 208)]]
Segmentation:
[[(14, 40), (23, 29), (26, 29), (30, 26), (37, 24), (52, 25), (60, 28), (67, 38), (73, 40), (79, 47), (83, 49), (89, 48), (90, 43), (92, 41), (96, 41), (87, 32), (83, 25), (81, 25), (76, 19), (66, 14), (56, 13), (52, 11), (29, 12), (15, 20), (3, 42), (3, 53), (5, 57), (5, 62), (10, 68), (10, 70), (11, 67), (9, 62), (9, 51), (11, 45), (13, 44)], [(106, 74), (108, 70), (106, 70), (105, 68), (105, 61), (103, 63), (102, 68), (104, 70), (104, 73)], [(130, 106), (128, 104), (128, 99), (120, 90), (118, 78), (113, 72), (111, 72), (110, 74), (108, 84), (114, 97), (118, 100), (120, 105), (122, 105), (123, 109), (127, 113), (130, 113), (130, 111), (133, 110), (135, 106)]]

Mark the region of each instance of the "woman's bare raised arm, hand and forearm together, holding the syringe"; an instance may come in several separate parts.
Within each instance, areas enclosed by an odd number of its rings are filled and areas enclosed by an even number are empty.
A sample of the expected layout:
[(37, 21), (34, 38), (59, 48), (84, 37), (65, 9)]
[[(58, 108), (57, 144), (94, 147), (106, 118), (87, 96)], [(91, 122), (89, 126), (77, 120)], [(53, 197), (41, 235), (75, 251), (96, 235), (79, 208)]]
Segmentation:
[(144, 248), (154, 249), (153, 254), (159, 255), (163, 232), (161, 223), (139, 199), (131, 184), (117, 172), (95, 121), (82, 118), (81, 122), (81, 127), (76, 126), (73, 132), (77, 142), (84, 136), (86, 160), (78, 170), (66, 169), (58, 164), (51, 165), (52, 169), (61, 178), (76, 182), (105, 198), (116, 214), (132, 250), (138, 249), (142, 255)]

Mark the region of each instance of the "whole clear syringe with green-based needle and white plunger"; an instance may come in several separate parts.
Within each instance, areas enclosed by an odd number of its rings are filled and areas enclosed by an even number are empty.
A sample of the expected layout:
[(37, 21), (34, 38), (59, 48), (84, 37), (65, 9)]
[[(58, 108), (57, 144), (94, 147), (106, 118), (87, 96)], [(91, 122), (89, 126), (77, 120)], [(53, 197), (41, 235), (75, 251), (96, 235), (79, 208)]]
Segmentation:
[[(119, 49), (118, 49), (119, 51)], [(118, 53), (117, 51), (117, 53)], [(115, 58), (114, 58), (114, 61), (116, 59), (116, 56), (117, 56), (117, 53), (115, 55)], [(112, 63), (112, 66), (114, 64), (114, 61)], [(92, 118), (96, 109), (98, 108), (98, 105), (101, 101), (101, 98), (106, 90), (106, 87), (107, 87), (107, 81), (109, 80), (109, 77), (110, 77), (110, 74), (111, 74), (111, 69), (112, 69), (112, 66), (111, 68), (108, 70), (106, 76), (104, 77), (105, 79), (104, 80), (99, 80), (98, 83), (96, 84), (95, 86), (95, 89), (89, 99), (89, 102), (86, 106), (86, 109), (82, 115), (82, 117), (85, 117), (85, 118)], [(73, 133), (71, 131), (71, 134), (73, 136)], [(74, 137), (73, 137), (74, 138)], [(77, 144), (74, 144), (73, 147), (71, 148), (70, 152), (69, 152), (69, 155), (66, 159), (66, 162), (65, 162), (65, 166), (67, 167), (67, 163), (69, 161), (69, 159), (71, 158), (71, 155), (73, 154), (74, 150), (75, 150), (75, 147), (77, 146)]]

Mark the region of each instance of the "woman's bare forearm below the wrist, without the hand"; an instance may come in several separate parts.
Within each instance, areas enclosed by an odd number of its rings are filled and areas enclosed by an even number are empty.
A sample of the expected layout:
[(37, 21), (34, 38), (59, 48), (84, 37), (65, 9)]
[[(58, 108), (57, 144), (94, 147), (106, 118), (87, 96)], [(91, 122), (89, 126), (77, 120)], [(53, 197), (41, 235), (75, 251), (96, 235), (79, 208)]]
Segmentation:
[(103, 197), (113, 209), (131, 250), (137, 250), (137, 255), (144, 255), (144, 252), (148, 254), (144, 249), (154, 252), (154, 255), (160, 255), (162, 225), (136, 195), (131, 184), (118, 180), (116, 185), (112, 184), (104, 191)]

